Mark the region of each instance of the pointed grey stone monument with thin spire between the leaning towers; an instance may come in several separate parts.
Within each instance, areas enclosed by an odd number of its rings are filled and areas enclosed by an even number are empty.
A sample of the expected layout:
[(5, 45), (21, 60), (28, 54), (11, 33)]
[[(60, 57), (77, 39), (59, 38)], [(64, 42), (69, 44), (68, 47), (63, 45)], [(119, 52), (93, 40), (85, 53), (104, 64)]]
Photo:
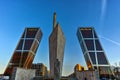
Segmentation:
[(56, 13), (53, 16), (53, 31), (49, 37), (50, 75), (61, 77), (64, 59), (65, 37), (60, 27), (56, 24)]

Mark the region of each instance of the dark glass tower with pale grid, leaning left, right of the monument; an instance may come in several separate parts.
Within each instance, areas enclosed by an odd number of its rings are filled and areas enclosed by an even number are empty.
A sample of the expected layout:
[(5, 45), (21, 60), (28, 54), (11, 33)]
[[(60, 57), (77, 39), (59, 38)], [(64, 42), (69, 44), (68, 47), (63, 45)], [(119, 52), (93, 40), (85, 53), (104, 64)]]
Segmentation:
[(89, 70), (98, 70), (100, 78), (111, 78), (113, 72), (93, 27), (78, 28), (77, 37)]

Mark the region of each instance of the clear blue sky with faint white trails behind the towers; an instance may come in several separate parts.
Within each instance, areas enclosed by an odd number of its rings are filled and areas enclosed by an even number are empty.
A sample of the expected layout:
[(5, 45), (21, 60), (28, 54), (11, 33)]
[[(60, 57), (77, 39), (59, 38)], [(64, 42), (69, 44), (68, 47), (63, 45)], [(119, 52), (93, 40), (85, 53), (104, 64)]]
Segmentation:
[(120, 61), (119, 0), (0, 0), (0, 73), (6, 68), (25, 27), (40, 27), (43, 37), (35, 63), (49, 69), (48, 38), (53, 13), (66, 37), (63, 75), (73, 72), (76, 64), (86, 66), (76, 36), (78, 27), (92, 26), (111, 65)]

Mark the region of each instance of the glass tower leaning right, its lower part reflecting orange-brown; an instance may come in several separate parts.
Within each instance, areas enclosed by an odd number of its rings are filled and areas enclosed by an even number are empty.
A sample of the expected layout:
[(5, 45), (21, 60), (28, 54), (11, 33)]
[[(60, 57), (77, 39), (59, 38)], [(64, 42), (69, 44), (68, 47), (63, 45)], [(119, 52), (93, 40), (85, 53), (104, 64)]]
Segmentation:
[(4, 75), (11, 76), (14, 67), (31, 68), (42, 38), (40, 28), (26, 28), (7, 65)]

